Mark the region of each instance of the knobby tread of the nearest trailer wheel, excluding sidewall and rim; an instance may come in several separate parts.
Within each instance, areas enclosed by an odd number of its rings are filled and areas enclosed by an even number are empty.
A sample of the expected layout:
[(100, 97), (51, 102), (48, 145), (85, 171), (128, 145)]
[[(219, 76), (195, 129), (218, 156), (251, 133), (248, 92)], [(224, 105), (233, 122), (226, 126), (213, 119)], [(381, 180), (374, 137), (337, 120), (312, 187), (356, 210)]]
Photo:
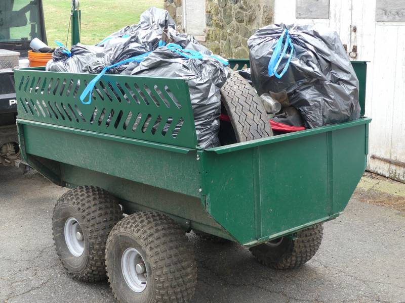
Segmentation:
[[(138, 212), (119, 221), (111, 230), (106, 244), (107, 275), (110, 242), (118, 233), (131, 233), (152, 260), (153, 298), (149, 302), (189, 302), (197, 284), (197, 263), (194, 247), (184, 229), (170, 217), (157, 212)], [(110, 277), (108, 281), (111, 281)], [(119, 301), (111, 286), (115, 299)], [(127, 303), (127, 302), (121, 302)]]

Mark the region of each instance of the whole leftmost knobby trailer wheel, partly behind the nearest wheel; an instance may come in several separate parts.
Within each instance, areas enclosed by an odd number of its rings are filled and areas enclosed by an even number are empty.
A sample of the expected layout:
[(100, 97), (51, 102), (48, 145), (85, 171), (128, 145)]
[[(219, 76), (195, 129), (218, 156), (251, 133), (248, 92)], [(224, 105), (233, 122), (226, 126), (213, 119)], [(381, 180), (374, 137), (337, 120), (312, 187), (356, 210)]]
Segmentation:
[(118, 200), (95, 186), (76, 187), (58, 199), (52, 231), (57, 254), (68, 273), (88, 282), (106, 279), (105, 243), (122, 215)]

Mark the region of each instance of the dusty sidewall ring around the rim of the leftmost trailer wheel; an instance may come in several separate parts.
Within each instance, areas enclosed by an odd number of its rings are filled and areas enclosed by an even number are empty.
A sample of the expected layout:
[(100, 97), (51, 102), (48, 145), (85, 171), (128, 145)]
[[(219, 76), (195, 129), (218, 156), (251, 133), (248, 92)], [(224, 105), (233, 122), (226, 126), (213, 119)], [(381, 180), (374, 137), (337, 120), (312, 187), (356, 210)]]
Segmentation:
[[(80, 228), (82, 228), (85, 243), (83, 254), (80, 257), (73, 256), (66, 244), (64, 228), (65, 222), (69, 218), (76, 219)], [(86, 223), (83, 220), (83, 215), (75, 207), (62, 203), (55, 209), (53, 230), (56, 250), (63, 265), (72, 273), (82, 273), (89, 263), (89, 233), (85, 227)]]

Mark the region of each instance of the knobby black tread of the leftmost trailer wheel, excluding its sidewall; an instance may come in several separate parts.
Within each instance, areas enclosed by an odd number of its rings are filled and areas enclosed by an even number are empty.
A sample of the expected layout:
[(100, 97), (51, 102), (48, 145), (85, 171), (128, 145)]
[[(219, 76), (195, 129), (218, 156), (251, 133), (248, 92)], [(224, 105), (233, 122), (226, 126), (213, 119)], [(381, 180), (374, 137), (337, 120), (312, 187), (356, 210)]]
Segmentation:
[(54, 207), (52, 218), (54, 242), (56, 236), (54, 229), (55, 211), (62, 204), (69, 204), (82, 214), (85, 221), (85, 226), (81, 226), (82, 231), (89, 238), (87, 265), (80, 273), (69, 271), (62, 260), (60, 250), (55, 247), (63, 266), (73, 278), (80, 281), (98, 282), (106, 280), (105, 244), (111, 229), (123, 217), (118, 199), (106, 190), (95, 186), (78, 186), (65, 192)]

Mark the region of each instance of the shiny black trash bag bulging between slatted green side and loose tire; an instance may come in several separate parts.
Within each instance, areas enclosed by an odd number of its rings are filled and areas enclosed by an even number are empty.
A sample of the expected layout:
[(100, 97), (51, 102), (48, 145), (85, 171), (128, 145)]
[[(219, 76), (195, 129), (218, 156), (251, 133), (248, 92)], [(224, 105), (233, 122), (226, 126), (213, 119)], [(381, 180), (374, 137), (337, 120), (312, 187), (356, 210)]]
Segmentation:
[(221, 62), (223, 59), (217, 58), (220, 61), (209, 56), (187, 59), (164, 46), (149, 54), (142, 62), (130, 63), (123, 74), (187, 79), (198, 144), (210, 148), (220, 145), (220, 88), (230, 72)]

